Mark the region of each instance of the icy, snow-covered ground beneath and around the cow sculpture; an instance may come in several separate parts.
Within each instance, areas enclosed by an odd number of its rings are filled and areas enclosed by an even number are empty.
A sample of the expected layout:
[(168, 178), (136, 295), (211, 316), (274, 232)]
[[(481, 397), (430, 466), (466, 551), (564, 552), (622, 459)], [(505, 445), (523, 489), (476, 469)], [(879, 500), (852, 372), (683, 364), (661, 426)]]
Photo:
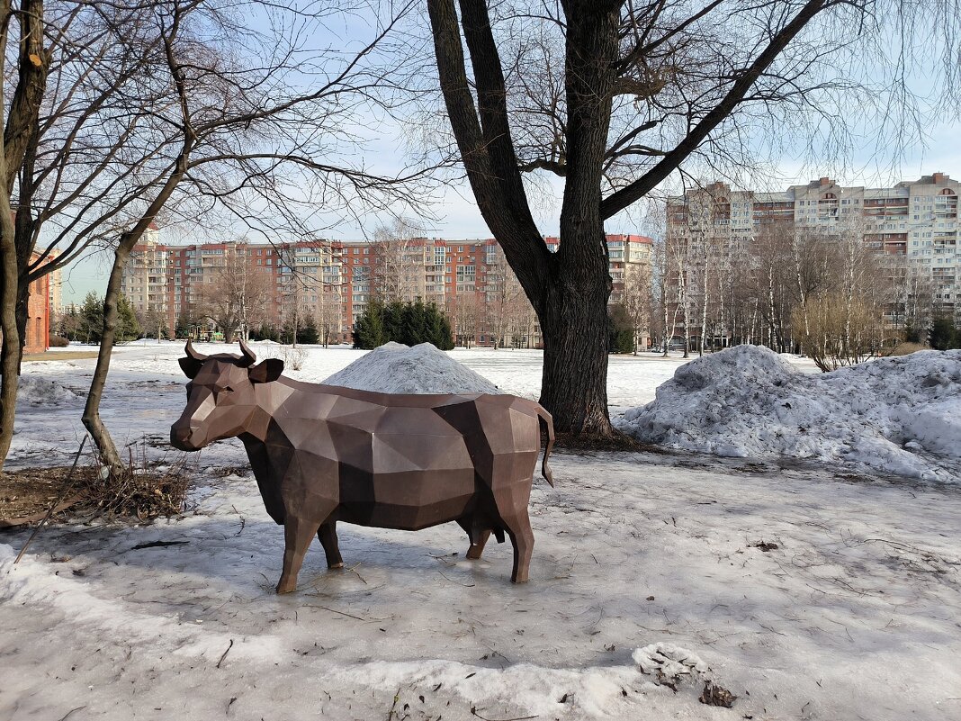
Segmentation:
[[(174, 453), (181, 352), (113, 358), (103, 417), (153, 458)], [(536, 351), (450, 355), (538, 394)], [(359, 357), (314, 349), (289, 375), (321, 381)], [(93, 363), (25, 370), (83, 392)], [(652, 401), (681, 363), (612, 359), (615, 413)], [(12, 467), (62, 463), (82, 435), (81, 397), (32, 392), (58, 405), (20, 406)], [(278, 597), (283, 531), (242, 447), (191, 460), (183, 518), (47, 529), (15, 567), (27, 532), (0, 535), (0, 718), (961, 718), (957, 485), (561, 453), (556, 487), (538, 480), (531, 498), (530, 584), (509, 583), (509, 543), (463, 559), (453, 524), (343, 525), (347, 568), (327, 570), (315, 544), (299, 590)], [(157, 541), (174, 545), (136, 548)], [(733, 709), (698, 702), (706, 680)]]

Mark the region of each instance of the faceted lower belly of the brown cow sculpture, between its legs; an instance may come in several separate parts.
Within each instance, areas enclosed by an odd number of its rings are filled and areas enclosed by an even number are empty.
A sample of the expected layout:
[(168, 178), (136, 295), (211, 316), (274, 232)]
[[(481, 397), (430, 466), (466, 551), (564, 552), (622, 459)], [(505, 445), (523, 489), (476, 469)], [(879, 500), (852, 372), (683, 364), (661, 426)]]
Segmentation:
[(340, 472), (337, 518), (360, 526), (417, 531), (467, 515), (478, 502), (473, 467)]

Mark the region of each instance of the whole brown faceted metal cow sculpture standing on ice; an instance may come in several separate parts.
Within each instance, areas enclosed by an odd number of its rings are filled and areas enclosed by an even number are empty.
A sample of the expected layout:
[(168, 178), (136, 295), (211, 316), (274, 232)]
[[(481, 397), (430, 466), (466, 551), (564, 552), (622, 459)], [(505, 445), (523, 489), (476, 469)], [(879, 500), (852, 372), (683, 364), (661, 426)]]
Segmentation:
[(281, 376), (283, 360), (202, 356), (186, 344), (181, 367), (190, 383), (170, 442), (198, 451), (222, 438), (243, 441), (267, 512), (283, 524), (278, 593), (297, 586), (316, 534), (331, 568), (341, 568), (336, 523), (405, 531), (456, 521), (480, 559), (493, 533), (514, 546), (510, 580), (528, 580), (534, 537), (528, 503), (540, 454), (554, 444), (551, 414), (511, 395), (407, 395)]

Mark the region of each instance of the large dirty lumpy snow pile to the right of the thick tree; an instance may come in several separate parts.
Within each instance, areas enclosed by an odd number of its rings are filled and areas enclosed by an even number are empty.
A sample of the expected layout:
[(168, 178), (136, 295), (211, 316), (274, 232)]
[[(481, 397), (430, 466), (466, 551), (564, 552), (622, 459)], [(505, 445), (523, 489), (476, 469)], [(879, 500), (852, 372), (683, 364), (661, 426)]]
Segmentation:
[(961, 351), (926, 351), (806, 375), (750, 345), (692, 360), (628, 410), (623, 430), (720, 456), (843, 460), (957, 481)]

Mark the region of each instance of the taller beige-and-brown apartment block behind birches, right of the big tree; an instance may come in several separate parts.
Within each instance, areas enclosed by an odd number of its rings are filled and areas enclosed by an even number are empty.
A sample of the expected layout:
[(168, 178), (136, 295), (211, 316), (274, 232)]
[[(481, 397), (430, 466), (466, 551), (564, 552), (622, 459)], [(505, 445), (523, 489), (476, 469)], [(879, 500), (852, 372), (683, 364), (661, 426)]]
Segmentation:
[[(903, 259), (902, 266), (932, 289), (931, 301), (961, 311), (958, 193), (944, 173), (892, 187), (840, 186), (827, 177), (782, 192), (732, 190), (714, 183), (668, 199), (667, 241), (674, 248), (706, 246), (731, 257), (777, 223), (863, 238), (865, 247)], [(695, 254), (696, 255), (696, 254)], [(687, 259), (688, 284), (697, 286), (703, 259)], [(897, 263), (890, 263), (895, 267)], [(893, 271), (892, 271), (893, 272)], [(694, 324), (697, 328), (698, 324)], [(676, 334), (677, 335), (677, 332)]]

